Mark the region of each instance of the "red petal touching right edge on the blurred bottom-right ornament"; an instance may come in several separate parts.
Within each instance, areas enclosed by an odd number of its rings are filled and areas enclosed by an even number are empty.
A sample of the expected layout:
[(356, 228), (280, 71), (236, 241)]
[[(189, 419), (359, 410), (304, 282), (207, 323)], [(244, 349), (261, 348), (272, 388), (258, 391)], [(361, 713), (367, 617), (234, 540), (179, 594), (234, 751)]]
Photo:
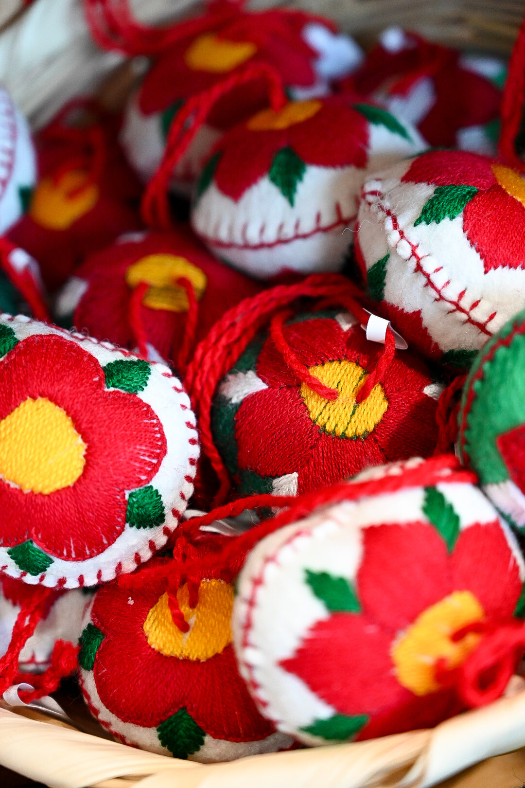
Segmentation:
[(512, 615), (523, 583), (497, 520), (461, 531), (450, 562), (454, 589), (471, 591), (489, 618)]

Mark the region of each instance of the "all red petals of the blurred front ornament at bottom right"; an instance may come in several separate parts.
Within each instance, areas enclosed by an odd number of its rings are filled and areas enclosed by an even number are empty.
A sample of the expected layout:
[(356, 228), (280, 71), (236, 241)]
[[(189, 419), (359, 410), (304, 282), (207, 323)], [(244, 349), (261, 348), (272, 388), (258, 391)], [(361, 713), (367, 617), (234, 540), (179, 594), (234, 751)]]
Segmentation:
[(373, 526), (363, 531), (363, 551), (356, 583), (361, 611), (318, 621), (283, 667), (339, 714), (367, 715), (357, 738), (430, 727), (460, 712), (457, 690), (427, 687), (418, 695), (407, 689), (397, 678), (396, 645), (418, 616), (454, 592), (466, 592), (486, 619), (508, 619), (522, 589), (516, 559), (497, 522), (461, 531), (453, 552), (423, 522)]

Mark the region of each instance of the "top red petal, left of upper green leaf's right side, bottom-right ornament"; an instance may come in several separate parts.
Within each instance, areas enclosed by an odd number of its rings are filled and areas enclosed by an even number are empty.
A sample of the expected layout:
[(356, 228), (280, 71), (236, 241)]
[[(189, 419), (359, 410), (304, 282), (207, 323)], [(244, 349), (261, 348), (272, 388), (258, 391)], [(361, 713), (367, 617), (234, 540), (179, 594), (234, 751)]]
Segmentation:
[(446, 543), (423, 522), (363, 530), (357, 596), (366, 615), (395, 633), (450, 593)]

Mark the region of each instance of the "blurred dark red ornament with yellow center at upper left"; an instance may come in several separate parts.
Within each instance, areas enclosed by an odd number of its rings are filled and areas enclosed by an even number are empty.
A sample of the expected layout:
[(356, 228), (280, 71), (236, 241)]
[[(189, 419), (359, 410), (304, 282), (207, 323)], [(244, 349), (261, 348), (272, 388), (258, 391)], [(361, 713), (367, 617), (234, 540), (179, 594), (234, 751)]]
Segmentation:
[(77, 108), (66, 107), (39, 132), (39, 182), (28, 214), (9, 232), (13, 243), (39, 261), (50, 292), (85, 255), (143, 226), (140, 186), (111, 122), (95, 116), (91, 125), (76, 128), (67, 123), (72, 109)]

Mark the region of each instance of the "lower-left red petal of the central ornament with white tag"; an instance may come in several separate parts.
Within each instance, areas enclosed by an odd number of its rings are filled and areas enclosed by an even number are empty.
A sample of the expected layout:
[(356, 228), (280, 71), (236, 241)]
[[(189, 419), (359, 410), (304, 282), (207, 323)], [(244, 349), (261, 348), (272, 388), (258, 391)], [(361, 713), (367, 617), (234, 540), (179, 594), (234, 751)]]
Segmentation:
[(319, 438), (297, 388), (250, 394), (235, 415), (238, 467), (261, 476), (299, 470)]

